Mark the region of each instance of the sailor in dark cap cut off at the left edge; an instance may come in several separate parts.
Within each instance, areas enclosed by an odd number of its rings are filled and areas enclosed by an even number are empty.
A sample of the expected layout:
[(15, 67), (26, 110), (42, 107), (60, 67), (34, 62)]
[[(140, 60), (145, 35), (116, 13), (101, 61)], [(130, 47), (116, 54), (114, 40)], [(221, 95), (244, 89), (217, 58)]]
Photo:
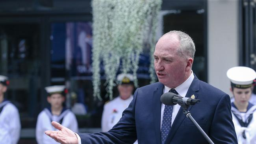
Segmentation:
[(17, 144), (20, 138), (20, 116), (18, 109), (4, 99), (9, 85), (6, 76), (0, 76), (0, 144)]

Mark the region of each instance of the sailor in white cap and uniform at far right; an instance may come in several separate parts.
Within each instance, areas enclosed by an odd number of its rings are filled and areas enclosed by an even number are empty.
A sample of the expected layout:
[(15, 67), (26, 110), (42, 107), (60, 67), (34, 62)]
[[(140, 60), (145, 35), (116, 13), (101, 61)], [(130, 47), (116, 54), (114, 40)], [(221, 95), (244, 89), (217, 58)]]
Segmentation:
[(231, 112), (238, 144), (256, 144), (256, 105), (249, 102), (256, 72), (248, 67), (236, 66), (227, 71), (234, 96)]

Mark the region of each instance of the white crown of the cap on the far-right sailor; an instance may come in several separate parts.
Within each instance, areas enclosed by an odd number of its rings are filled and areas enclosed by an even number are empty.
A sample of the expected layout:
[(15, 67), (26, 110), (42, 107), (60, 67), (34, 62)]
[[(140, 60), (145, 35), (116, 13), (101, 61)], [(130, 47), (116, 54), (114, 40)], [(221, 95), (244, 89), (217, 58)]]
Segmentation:
[(256, 78), (256, 72), (249, 67), (236, 66), (227, 71), (227, 76), (236, 85), (250, 85)]

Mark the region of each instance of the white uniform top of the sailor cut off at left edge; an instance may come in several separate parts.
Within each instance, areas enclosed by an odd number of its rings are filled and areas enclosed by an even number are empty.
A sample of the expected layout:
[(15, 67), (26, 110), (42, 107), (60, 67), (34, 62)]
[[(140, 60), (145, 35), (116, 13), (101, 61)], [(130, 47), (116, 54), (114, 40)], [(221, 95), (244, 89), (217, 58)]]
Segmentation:
[(17, 144), (21, 128), (19, 111), (9, 101), (3, 101), (0, 105), (6, 102), (0, 113), (0, 144)]

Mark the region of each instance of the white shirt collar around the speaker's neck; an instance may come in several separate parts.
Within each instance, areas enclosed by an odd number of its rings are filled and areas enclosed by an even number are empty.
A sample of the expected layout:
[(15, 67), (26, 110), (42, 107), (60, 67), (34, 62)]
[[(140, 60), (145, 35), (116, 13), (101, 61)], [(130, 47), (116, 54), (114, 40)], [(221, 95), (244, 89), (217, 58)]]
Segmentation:
[[(178, 87), (174, 88), (178, 94), (182, 97), (185, 97), (186, 94), (187, 94), (187, 90), (189, 89), (193, 79), (194, 79), (194, 74), (193, 74), (193, 71), (191, 70), (191, 74), (189, 76), (189, 78), (187, 78), (186, 81), (184, 81), (182, 84), (180, 84)], [(163, 93), (165, 92), (169, 92), (171, 88), (165, 86), (164, 90), (163, 90)]]

